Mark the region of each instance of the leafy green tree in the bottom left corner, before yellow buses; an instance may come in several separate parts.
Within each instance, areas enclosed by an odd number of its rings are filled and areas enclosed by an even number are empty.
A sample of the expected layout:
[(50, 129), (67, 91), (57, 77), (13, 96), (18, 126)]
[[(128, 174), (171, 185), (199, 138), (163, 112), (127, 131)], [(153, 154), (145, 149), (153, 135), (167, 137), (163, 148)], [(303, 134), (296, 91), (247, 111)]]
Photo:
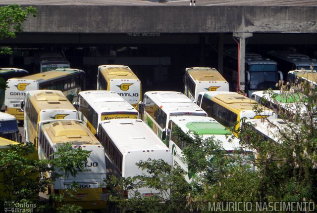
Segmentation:
[[(37, 154), (31, 143), (14, 145), (10, 150), (0, 151), (0, 178), (4, 183), (1, 185), (4, 191), (0, 196), (1, 205), (7, 200), (24, 201), (36, 203), (36, 212), (53, 212), (51, 206), (38, 202), (39, 192), (46, 192), (57, 177), (76, 176), (83, 170), (83, 162), (87, 163), (89, 151), (73, 149), (70, 143), (66, 143), (57, 149), (53, 160), (39, 161)], [(40, 174), (46, 172), (51, 173), (51, 177), (41, 177)], [(73, 182), (63, 194), (49, 196), (58, 206), (57, 211), (81, 212), (81, 207), (65, 204), (67, 199), (75, 199), (73, 195), (78, 188), (78, 183)]]

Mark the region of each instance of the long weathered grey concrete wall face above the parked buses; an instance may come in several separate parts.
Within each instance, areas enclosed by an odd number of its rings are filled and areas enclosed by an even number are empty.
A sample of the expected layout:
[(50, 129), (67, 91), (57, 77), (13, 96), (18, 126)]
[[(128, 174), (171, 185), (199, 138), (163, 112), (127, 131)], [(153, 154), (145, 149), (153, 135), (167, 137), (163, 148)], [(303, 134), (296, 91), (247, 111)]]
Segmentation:
[(317, 7), (33, 6), (25, 33), (317, 33)]

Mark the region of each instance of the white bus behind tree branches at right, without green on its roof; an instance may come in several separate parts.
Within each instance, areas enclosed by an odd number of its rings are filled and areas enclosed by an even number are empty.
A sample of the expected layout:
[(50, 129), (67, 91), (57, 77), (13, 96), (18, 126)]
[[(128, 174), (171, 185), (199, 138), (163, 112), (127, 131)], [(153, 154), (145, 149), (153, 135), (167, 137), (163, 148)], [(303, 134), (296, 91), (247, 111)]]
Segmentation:
[[(250, 125), (248, 125), (250, 122)], [(282, 143), (281, 133), (287, 131), (287, 123), (283, 119), (247, 119), (242, 128), (250, 128), (257, 132), (262, 140)]]

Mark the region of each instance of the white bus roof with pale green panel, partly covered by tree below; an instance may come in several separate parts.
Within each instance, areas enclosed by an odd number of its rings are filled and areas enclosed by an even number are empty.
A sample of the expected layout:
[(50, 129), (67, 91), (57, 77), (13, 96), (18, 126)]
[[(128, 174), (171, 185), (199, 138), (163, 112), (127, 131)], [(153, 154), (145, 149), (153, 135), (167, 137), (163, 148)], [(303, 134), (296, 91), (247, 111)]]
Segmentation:
[[(195, 131), (202, 135), (204, 139), (214, 136), (215, 140), (222, 142), (222, 147), (225, 150), (235, 150), (240, 147), (239, 139), (235, 136), (232, 139), (232, 133), (213, 118), (203, 116), (182, 116), (172, 117), (170, 120), (185, 133), (190, 130)], [(229, 139), (232, 139), (232, 142), (229, 142)]]

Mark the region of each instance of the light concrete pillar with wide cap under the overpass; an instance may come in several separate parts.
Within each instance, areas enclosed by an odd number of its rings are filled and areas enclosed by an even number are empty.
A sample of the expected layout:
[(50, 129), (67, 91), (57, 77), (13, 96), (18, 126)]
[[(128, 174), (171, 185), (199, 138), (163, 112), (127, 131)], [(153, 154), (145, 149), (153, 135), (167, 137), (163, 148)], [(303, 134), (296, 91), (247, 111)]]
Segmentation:
[(246, 38), (252, 37), (252, 33), (233, 33), (234, 37), (239, 38), (239, 93), (245, 93), (245, 56)]

